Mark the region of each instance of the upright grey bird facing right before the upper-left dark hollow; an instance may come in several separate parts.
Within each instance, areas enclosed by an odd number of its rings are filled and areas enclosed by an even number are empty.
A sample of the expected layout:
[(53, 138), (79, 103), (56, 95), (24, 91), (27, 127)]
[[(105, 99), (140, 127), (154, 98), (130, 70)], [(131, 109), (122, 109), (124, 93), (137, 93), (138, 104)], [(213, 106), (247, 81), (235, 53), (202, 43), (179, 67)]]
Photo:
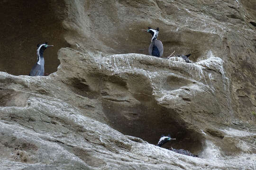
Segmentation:
[(37, 44), (37, 63), (31, 69), (29, 76), (44, 76), (45, 73), (45, 60), (43, 53), (48, 47), (53, 45), (48, 45), (47, 42), (42, 44)]

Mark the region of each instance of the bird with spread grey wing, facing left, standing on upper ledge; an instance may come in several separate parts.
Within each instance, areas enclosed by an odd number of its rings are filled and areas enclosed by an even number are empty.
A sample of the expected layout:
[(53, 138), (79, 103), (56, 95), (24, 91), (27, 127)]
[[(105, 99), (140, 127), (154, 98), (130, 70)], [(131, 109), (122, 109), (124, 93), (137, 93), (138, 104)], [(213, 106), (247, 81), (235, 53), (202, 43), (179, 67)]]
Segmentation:
[(155, 57), (162, 57), (164, 52), (164, 46), (160, 40), (157, 40), (159, 27), (157, 27), (156, 29), (148, 27), (147, 30), (142, 29), (142, 31), (146, 31), (147, 33), (150, 33), (152, 35), (151, 43), (148, 47), (149, 55), (152, 55)]

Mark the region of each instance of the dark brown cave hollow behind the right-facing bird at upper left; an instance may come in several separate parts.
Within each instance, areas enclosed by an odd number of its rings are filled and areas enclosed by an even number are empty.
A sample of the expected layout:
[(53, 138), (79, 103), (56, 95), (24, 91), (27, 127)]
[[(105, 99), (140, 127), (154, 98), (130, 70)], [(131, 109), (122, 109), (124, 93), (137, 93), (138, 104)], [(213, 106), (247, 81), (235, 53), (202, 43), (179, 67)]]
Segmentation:
[(43, 42), (54, 45), (44, 52), (45, 73), (57, 70), (60, 64), (57, 51), (68, 46), (63, 36), (63, 14), (56, 10), (63, 4), (51, 0), (0, 2), (0, 71), (16, 76), (28, 75), (37, 62), (37, 44)]

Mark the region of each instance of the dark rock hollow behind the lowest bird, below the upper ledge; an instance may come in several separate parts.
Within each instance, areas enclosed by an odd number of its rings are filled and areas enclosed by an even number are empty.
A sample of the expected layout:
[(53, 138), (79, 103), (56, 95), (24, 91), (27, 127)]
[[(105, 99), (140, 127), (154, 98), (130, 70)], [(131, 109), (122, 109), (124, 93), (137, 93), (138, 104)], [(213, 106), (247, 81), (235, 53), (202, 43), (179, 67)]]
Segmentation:
[(162, 135), (170, 135), (176, 140), (167, 142), (163, 148), (184, 149), (197, 155), (203, 150), (204, 137), (179, 120), (174, 110), (156, 104), (124, 108), (111, 101), (104, 101), (103, 106), (110, 126), (125, 135), (136, 136), (155, 145)]

